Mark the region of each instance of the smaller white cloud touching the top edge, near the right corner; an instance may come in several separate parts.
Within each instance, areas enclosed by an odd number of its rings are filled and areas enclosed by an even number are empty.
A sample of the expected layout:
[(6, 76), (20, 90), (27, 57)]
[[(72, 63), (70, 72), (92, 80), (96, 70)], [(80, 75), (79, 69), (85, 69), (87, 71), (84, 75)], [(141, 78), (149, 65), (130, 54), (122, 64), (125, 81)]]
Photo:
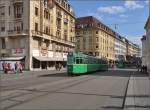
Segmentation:
[(128, 9), (138, 9), (138, 8), (144, 8), (143, 5), (139, 4), (138, 1), (132, 0), (132, 1), (125, 1), (124, 6)]

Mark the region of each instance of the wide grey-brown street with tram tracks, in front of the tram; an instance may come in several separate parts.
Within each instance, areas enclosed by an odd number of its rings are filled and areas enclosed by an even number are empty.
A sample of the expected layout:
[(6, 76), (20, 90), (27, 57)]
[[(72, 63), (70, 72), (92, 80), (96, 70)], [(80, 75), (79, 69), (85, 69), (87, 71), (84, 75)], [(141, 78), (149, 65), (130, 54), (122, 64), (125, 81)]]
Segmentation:
[(133, 74), (139, 73), (109, 70), (68, 77), (66, 71), (41, 71), (2, 76), (0, 110), (122, 110)]

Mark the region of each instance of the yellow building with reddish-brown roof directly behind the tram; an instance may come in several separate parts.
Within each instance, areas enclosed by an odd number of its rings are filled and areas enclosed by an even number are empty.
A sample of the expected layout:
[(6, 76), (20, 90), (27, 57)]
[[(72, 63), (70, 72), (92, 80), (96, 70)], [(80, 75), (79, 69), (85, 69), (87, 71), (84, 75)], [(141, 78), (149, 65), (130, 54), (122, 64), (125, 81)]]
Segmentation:
[(76, 20), (76, 51), (115, 61), (115, 32), (93, 16)]

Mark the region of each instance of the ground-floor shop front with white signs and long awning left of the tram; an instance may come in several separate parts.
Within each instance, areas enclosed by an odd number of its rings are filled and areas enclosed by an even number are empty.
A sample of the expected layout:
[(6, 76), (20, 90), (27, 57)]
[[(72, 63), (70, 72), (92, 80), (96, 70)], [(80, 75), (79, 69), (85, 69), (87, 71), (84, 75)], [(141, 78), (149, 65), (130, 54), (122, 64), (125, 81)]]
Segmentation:
[(61, 64), (65, 68), (67, 53), (33, 50), (32, 61), (34, 70), (54, 70), (58, 64)]

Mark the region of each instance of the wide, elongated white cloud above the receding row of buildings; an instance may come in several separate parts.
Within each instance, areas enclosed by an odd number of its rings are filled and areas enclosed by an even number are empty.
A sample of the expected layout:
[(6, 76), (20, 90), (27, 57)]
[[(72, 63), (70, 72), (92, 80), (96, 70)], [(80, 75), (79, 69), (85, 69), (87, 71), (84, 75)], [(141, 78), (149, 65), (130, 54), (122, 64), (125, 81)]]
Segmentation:
[(97, 11), (100, 13), (118, 14), (124, 13), (126, 10), (122, 6), (107, 6), (107, 7), (99, 7)]

